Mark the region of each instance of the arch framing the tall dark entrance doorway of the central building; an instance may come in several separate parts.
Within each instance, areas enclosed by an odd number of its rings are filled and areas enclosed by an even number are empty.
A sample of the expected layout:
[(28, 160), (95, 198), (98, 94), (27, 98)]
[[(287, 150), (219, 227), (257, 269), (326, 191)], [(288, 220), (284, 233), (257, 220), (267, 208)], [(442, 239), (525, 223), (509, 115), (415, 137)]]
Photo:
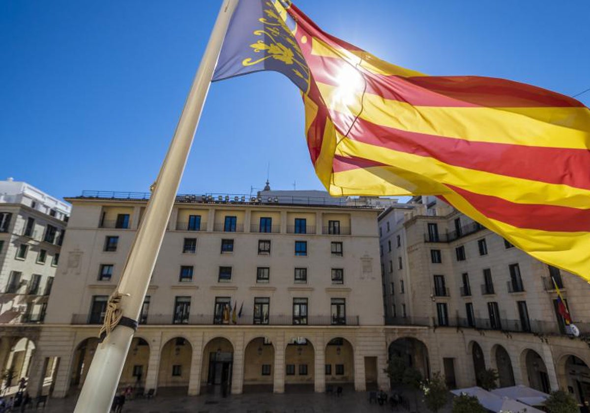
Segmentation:
[(228, 395), (234, 367), (234, 345), (230, 339), (216, 336), (203, 348), (201, 393)]

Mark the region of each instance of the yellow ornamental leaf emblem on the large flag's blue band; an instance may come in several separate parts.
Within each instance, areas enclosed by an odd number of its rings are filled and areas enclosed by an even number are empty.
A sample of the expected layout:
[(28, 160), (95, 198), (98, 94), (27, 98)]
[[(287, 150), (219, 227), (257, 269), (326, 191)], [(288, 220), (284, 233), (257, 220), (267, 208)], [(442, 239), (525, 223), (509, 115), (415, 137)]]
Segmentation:
[[(251, 66), (268, 59), (282, 62), (285, 66), (294, 66), (288, 69), (292, 74), (305, 81), (309, 87), (309, 68), (299, 45), (293, 37), (296, 23), (287, 14), (283, 3), (275, 2), (273, 4), (270, 1), (265, 2), (264, 14), (266, 17), (258, 19), (258, 21), (264, 24), (264, 28), (253, 32), (255, 35), (262, 37), (262, 39), (250, 45), (254, 53), (262, 53), (264, 56), (260, 58), (245, 58), (242, 60), (242, 65)], [(293, 25), (292, 30), (287, 26), (287, 22)], [(284, 67), (283, 70), (286, 68)], [(283, 71), (281, 68), (275, 68), (275, 70)]]

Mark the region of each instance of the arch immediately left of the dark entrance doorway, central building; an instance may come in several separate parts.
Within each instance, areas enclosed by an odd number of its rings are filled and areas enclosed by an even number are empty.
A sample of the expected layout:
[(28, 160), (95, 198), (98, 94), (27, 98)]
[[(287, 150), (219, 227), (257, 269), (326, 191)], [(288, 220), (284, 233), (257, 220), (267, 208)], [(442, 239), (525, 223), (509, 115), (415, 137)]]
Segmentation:
[(186, 395), (191, 377), (192, 345), (182, 336), (169, 339), (160, 351), (158, 394)]

